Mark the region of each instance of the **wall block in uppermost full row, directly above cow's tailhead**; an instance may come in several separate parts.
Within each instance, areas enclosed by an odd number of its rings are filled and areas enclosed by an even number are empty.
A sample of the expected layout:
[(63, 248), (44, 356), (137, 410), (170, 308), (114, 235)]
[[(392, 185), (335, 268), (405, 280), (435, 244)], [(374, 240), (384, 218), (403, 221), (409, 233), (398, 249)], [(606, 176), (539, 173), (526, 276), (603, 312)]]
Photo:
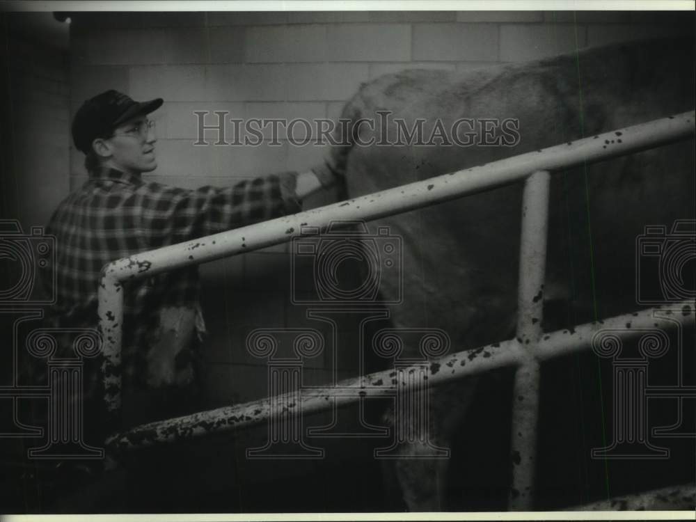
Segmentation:
[(326, 29), (327, 59), (345, 61), (409, 61), (409, 24), (337, 24)]

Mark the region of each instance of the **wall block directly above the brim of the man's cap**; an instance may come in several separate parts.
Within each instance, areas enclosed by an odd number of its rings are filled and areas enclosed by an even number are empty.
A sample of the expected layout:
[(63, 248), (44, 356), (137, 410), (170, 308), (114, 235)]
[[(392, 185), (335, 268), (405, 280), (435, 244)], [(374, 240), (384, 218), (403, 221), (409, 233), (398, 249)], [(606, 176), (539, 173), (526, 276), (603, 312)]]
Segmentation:
[(129, 68), (129, 94), (135, 100), (164, 98), (168, 102), (207, 100), (203, 65), (134, 66)]

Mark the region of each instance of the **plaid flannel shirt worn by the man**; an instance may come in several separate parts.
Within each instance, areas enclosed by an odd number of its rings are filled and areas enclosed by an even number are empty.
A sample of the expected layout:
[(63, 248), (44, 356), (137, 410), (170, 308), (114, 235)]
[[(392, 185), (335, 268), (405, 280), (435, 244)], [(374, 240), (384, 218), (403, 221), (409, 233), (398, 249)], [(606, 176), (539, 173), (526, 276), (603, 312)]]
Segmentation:
[[(90, 179), (58, 206), (46, 232), (56, 237), (54, 328), (96, 328), (97, 285), (105, 264), (128, 255), (299, 212), (296, 173), (245, 180), (228, 188), (185, 190), (116, 170)], [(50, 278), (47, 278), (50, 280)], [(148, 331), (166, 306), (198, 307), (198, 267), (124, 284), (122, 370), (143, 386)], [(65, 345), (71, 343), (65, 342)], [(71, 354), (72, 355), (72, 354)], [(87, 361), (86, 361), (87, 362)], [(98, 366), (85, 368), (85, 393), (97, 399)]]

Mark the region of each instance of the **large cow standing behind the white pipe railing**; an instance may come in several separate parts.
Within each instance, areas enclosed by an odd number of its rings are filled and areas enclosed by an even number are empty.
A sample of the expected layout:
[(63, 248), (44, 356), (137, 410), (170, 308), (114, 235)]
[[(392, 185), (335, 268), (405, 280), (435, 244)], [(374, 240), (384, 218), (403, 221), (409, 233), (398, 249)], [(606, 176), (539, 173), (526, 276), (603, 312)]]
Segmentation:
[[(693, 40), (387, 74), (361, 86), (343, 109), (354, 139), (347, 191), (362, 196), (693, 107)], [(636, 238), (646, 225), (693, 218), (693, 173), (686, 142), (553, 174), (546, 331), (638, 308)], [(379, 282), (395, 328), (441, 329), (454, 351), (514, 338), (521, 191), (512, 184), (370, 224), (371, 234), (388, 226), (402, 237), (403, 270), (383, 271)], [(432, 391), (435, 445), (451, 446), (474, 389), (470, 379)], [(427, 457), (432, 448), (406, 451)], [(409, 509), (446, 508), (447, 459), (393, 462)]]

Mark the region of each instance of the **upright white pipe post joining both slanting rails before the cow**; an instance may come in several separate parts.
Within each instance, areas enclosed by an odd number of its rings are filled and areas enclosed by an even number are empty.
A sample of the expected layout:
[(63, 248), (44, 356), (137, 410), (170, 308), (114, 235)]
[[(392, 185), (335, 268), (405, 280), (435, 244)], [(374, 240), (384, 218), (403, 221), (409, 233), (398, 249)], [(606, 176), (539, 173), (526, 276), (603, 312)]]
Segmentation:
[(517, 368), (512, 395), (512, 489), (509, 508), (530, 510), (534, 480), (539, 418), (539, 362), (533, 347), (541, 337), (548, 230), (548, 190), (551, 175), (538, 171), (525, 180), (522, 196), (517, 340), (527, 356)]

